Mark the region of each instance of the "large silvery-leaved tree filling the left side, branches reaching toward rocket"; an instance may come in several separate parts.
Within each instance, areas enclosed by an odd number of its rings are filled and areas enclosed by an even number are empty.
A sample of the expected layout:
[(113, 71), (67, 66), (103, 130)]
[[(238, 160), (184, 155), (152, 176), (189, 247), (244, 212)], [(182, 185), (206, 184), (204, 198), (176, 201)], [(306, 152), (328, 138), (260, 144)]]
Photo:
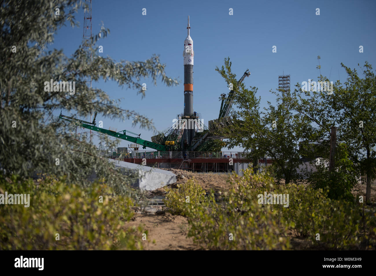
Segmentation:
[[(100, 158), (98, 148), (89, 145), (85, 136), (77, 139), (72, 136), (74, 124), (59, 120), (52, 112), (65, 109), (75, 116), (78, 110), (79, 116), (86, 118), (98, 112), (99, 116), (111, 119), (133, 119), (133, 124), (153, 129), (149, 119), (121, 109), (105, 91), (90, 89), (85, 80), (91, 76), (94, 81), (100, 78), (117, 81), (119, 86), (137, 89), (143, 95), (145, 91), (139, 83), (142, 77), (151, 77), (155, 84), (157, 77), (161, 77), (167, 86), (178, 82), (165, 75), (165, 65), (155, 55), (144, 62), (116, 62), (110, 57), (98, 56), (95, 43), (109, 32), (104, 27), (91, 41), (94, 47), (91, 63), (82, 46), (71, 57), (65, 56), (62, 50), (46, 51), (65, 22), (78, 25), (74, 13), (82, 6), (77, 0), (1, 3), (1, 173), (29, 177), (34, 172), (42, 172), (87, 185), (86, 179), (94, 169), (117, 192), (126, 192), (124, 183), (130, 179), (115, 170), (106, 158)], [(45, 82), (51, 79), (75, 83), (74, 94), (46, 89)], [(103, 135), (100, 141), (100, 148), (116, 145), (116, 141)]]

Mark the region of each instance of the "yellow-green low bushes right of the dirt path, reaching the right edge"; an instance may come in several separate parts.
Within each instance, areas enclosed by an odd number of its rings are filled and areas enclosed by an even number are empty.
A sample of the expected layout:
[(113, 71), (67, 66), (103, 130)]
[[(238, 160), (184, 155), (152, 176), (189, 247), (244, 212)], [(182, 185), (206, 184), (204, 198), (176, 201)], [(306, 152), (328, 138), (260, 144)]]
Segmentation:
[[(327, 190), (296, 184), (276, 185), (267, 173), (233, 175), (232, 189), (216, 198), (210, 192), (205, 200), (183, 201), (177, 189), (166, 205), (188, 216), (188, 236), (205, 249), (291, 249), (291, 238), (304, 238), (306, 248), (371, 249), (376, 246), (376, 216), (361, 205), (327, 198)], [(194, 182), (190, 193), (202, 193)], [(259, 204), (258, 195), (289, 195), (284, 204)], [(173, 195), (173, 196), (171, 196)], [(179, 201), (180, 199), (180, 201)], [(182, 212), (182, 210), (186, 210)], [(189, 211), (188, 211), (189, 210)], [(320, 234), (320, 240), (316, 240)]]

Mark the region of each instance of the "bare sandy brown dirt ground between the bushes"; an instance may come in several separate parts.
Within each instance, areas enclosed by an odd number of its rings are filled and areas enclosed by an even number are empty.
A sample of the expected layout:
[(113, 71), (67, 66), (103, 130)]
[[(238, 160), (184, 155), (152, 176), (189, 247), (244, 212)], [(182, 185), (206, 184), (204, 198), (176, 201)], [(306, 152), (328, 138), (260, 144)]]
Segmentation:
[[(174, 172), (177, 177), (176, 184), (183, 184), (188, 179), (194, 178), (206, 191), (214, 189), (215, 192), (226, 191), (230, 189), (227, 182), (229, 175), (215, 173), (192, 173), (185, 170), (168, 169)], [(182, 177), (183, 176), (183, 177)], [(169, 187), (176, 188), (176, 184)], [(360, 184), (353, 189), (354, 195), (360, 194), (365, 197), (365, 184)], [(149, 197), (155, 195), (165, 195), (166, 187), (150, 192)], [(364, 198), (365, 200), (365, 198)], [(371, 188), (371, 201), (376, 202), (376, 185)], [(134, 220), (127, 222), (129, 226), (142, 225), (148, 230), (147, 241), (145, 241), (144, 250), (199, 250), (200, 246), (193, 243), (192, 238), (186, 237), (188, 232), (188, 220), (186, 217), (175, 216), (170, 213), (164, 213), (156, 210), (162, 210), (162, 207), (149, 208), (149, 211), (137, 210)], [(159, 214), (161, 213), (161, 214)], [(153, 242), (155, 241), (155, 242)], [(293, 244), (296, 249), (301, 247), (303, 241), (294, 239)]]

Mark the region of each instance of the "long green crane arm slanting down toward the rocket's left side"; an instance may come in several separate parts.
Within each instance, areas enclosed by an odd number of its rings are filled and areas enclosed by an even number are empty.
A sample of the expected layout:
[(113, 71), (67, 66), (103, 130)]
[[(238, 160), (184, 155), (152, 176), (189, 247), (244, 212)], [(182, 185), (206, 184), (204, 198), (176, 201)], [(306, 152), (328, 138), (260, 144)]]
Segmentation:
[[(73, 118), (73, 117), (68, 117), (68, 116), (62, 115), (61, 112), (60, 112), (59, 119), (63, 119), (63, 120), (68, 121), (68, 122), (79, 122), (80, 127), (87, 128), (88, 130), (97, 131), (97, 132), (107, 134), (107, 135), (112, 136), (112, 137), (120, 138), (120, 139), (127, 140), (127, 141), (135, 143), (135, 144), (142, 145), (143, 149), (146, 149), (146, 147), (148, 147), (148, 148), (156, 149), (158, 151), (169, 151), (170, 150), (169, 146), (158, 144), (158, 143), (153, 143), (153, 142), (141, 139), (139, 137), (141, 134), (136, 134), (136, 133), (133, 133), (133, 132), (128, 131), (128, 130), (122, 130), (122, 131), (119, 131), (119, 132), (115, 132), (115, 131), (112, 131), (112, 130), (106, 130), (104, 128), (97, 127), (96, 122), (95, 122), (96, 116), (97, 116), (97, 112), (95, 113), (94, 120), (92, 122), (86, 122), (86, 121), (83, 121), (83, 120), (80, 120), (80, 119), (76, 119), (76, 118)], [(138, 137), (133, 137), (131, 135), (128, 135), (127, 133), (130, 133), (130, 134), (133, 134), (133, 135), (136, 135), (136, 136), (138, 135)]]

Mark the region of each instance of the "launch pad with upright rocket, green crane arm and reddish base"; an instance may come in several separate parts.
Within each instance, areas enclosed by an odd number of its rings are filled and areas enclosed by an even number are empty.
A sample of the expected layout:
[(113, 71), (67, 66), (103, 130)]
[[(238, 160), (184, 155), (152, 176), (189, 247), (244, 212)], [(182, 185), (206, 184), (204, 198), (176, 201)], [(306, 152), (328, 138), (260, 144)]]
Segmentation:
[[(150, 152), (147, 166), (157, 167), (177, 167), (181, 169), (191, 169), (202, 172), (229, 172), (233, 169), (229, 159), (233, 159), (232, 154), (221, 152), (225, 145), (222, 139), (226, 139), (225, 133), (231, 131), (232, 118), (229, 116), (236, 91), (230, 90), (229, 94), (221, 94), (222, 102), (218, 119), (209, 121), (209, 127), (202, 122), (201, 113), (197, 113), (193, 108), (193, 65), (194, 51), (193, 39), (190, 36), (190, 20), (188, 15), (187, 36), (184, 40), (183, 48), (183, 68), (184, 68), (184, 109), (183, 113), (176, 116), (176, 121), (165, 133), (160, 133), (151, 137), (151, 141), (140, 138), (141, 134), (133, 133), (129, 130), (106, 130), (97, 127), (96, 115), (92, 122), (86, 122), (73, 117), (60, 114), (59, 118), (69, 122), (76, 122), (80, 127), (107, 134), (132, 142), (130, 152), (112, 152), (109, 158), (117, 158), (136, 164), (144, 164), (145, 156), (139, 155), (139, 146), (142, 149), (152, 148), (156, 151)], [(238, 81), (240, 84), (245, 77), (249, 77), (247, 69)], [(226, 131), (224, 131), (226, 130)], [(114, 154), (116, 157), (114, 157)], [(146, 155), (147, 152), (144, 152)], [(243, 153), (237, 153), (240, 156)], [(167, 155), (167, 156), (166, 156)], [(157, 158), (158, 157), (158, 158)], [(235, 155), (234, 155), (235, 158)], [(247, 163), (249, 160), (235, 158), (235, 163)], [(234, 162), (233, 160), (231, 162)], [(232, 166), (232, 167), (231, 167)]]

